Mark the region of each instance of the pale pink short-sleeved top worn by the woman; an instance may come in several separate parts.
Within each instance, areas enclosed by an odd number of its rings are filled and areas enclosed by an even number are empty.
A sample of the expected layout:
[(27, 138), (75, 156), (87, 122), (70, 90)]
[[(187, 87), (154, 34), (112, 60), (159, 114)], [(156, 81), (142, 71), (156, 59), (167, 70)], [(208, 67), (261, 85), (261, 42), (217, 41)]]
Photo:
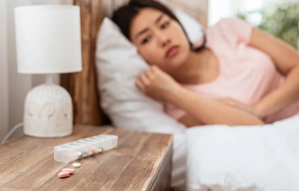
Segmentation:
[[(277, 89), (285, 77), (267, 54), (248, 45), (252, 29), (251, 24), (237, 18), (223, 18), (208, 28), (206, 46), (218, 58), (219, 76), (212, 82), (183, 86), (208, 98), (233, 98), (247, 104), (255, 104)], [(165, 111), (177, 120), (186, 115), (168, 103)], [(268, 116), (265, 122), (273, 123), (295, 114), (299, 114), (299, 102)]]

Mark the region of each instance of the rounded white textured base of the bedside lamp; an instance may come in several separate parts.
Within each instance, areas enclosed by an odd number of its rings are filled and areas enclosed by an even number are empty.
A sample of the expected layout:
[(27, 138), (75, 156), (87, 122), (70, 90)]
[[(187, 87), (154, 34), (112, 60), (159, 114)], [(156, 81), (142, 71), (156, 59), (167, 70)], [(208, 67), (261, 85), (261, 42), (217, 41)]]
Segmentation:
[(24, 134), (57, 138), (73, 133), (73, 108), (70, 94), (56, 84), (31, 89), (25, 100)]

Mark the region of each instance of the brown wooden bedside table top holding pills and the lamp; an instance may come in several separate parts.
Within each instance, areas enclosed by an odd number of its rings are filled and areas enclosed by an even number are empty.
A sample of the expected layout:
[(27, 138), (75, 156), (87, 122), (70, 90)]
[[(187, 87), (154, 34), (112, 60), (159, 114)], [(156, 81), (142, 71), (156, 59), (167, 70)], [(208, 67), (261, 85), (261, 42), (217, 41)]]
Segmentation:
[[(119, 136), (116, 149), (71, 163), (54, 160), (54, 146), (103, 133)], [(0, 145), (0, 191), (152, 190), (155, 184), (169, 184), (171, 164), (163, 166), (171, 150), (171, 135), (117, 128), (75, 126), (72, 136), (61, 139), (20, 136)], [(72, 167), (75, 162), (82, 166)], [(63, 168), (76, 172), (58, 178)], [(158, 178), (163, 181), (154, 183)]]

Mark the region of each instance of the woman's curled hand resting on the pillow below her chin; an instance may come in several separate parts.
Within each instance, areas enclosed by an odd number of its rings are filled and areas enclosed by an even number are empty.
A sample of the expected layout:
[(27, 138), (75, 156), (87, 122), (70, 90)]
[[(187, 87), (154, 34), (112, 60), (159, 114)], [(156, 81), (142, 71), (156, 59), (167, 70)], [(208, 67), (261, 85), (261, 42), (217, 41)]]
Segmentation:
[(177, 88), (181, 86), (167, 73), (157, 66), (145, 70), (136, 80), (136, 86), (147, 96), (167, 102)]

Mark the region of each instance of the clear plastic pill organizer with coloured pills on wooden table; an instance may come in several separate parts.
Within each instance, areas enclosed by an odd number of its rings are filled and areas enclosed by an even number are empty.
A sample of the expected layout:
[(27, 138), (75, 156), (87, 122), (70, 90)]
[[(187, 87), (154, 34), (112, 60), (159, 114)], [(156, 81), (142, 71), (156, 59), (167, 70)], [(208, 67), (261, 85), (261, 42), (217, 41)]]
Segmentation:
[(69, 163), (117, 147), (118, 136), (101, 134), (54, 147), (54, 160)]

